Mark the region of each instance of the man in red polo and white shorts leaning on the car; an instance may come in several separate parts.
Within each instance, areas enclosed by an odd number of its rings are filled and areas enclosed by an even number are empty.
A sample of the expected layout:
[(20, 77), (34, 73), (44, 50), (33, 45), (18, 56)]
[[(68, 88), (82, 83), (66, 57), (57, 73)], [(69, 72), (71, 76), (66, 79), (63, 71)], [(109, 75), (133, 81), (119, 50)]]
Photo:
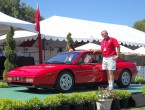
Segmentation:
[(109, 90), (113, 90), (114, 89), (113, 71), (116, 70), (116, 59), (119, 57), (120, 46), (115, 38), (108, 36), (108, 32), (106, 30), (103, 30), (101, 32), (101, 35), (103, 37), (103, 40), (101, 41), (101, 49), (94, 50), (94, 52), (102, 52), (103, 55), (102, 70), (106, 70), (107, 72)]

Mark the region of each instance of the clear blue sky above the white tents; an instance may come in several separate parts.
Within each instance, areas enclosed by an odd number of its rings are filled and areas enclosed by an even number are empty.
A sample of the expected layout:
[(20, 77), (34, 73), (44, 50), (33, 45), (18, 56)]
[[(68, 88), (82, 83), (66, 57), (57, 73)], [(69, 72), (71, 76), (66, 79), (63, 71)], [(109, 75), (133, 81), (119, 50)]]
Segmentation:
[(62, 16), (133, 26), (145, 19), (145, 0), (20, 0), (34, 9), (39, 4), (44, 19)]

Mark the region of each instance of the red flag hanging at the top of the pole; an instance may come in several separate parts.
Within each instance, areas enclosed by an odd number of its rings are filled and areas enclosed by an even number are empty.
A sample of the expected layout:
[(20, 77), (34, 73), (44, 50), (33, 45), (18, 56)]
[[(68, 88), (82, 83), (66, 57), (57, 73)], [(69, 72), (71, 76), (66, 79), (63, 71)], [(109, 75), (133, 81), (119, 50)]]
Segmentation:
[(35, 22), (36, 22), (35, 29), (37, 32), (40, 32), (39, 19), (40, 19), (40, 10), (39, 10), (39, 5), (37, 5), (37, 10), (35, 15)]

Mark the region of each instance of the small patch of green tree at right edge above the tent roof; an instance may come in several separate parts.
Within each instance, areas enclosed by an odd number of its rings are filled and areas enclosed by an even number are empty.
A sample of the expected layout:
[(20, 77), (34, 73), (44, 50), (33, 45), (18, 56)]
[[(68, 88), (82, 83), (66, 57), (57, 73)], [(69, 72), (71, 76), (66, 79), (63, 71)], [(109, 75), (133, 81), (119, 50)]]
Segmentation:
[(145, 32), (145, 19), (135, 22), (133, 28)]

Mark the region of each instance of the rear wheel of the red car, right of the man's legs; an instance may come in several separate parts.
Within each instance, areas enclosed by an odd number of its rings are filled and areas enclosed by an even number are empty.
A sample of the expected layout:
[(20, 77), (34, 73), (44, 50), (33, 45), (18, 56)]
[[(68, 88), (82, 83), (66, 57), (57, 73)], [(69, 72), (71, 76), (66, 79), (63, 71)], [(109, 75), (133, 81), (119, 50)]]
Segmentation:
[(120, 88), (127, 88), (130, 85), (130, 82), (131, 73), (128, 70), (124, 70), (121, 72), (116, 84)]

